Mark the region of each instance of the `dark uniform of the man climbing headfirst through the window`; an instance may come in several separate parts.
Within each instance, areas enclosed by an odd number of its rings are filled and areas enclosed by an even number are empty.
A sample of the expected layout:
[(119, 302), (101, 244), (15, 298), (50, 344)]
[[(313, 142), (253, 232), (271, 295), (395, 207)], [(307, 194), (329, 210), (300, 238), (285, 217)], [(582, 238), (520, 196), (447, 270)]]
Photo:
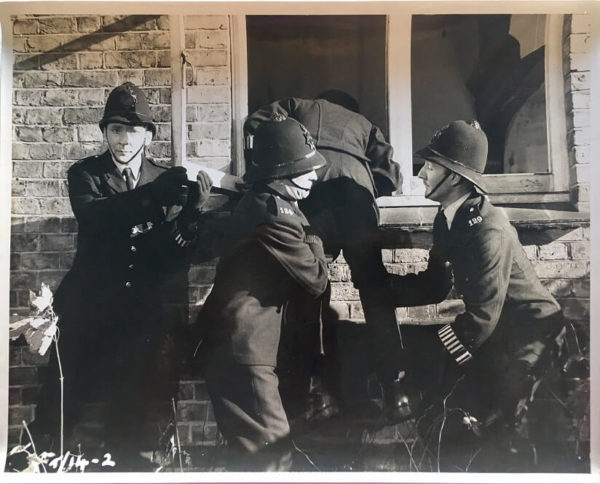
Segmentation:
[[(318, 183), (300, 201), (300, 208), (322, 237), (328, 258), (343, 251), (352, 282), (360, 292), (376, 371), (384, 382), (391, 382), (397, 373), (401, 347), (395, 314), (398, 301), (397, 294), (391, 293), (390, 275), (378, 242), (376, 197), (390, 195), (402, 184), (399, 165), (392, 160), (392, 146), (364, 116), (324, 99), (276, 101), (251, 114), (244, 132), (254, 133), (274, 113), (300, 121), (327, 161), (317, 171)], [(324, 316), (331, 322), (340, 319), (333, 307)], [(326, 348), (332, 360), (335, 351), (332, 346)], [(339, 381), (339, 375), (331, 380)]]

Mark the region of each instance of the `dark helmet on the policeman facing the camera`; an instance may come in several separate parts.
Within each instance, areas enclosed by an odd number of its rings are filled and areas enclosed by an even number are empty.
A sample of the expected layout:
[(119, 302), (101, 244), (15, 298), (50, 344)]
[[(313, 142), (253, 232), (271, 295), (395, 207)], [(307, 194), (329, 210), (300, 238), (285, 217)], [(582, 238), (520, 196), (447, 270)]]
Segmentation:
[(104, 116), (100, 120), (100, 129), (104, 129), (108, 123), (146, 126), (153, 135), (156, 134), (146, 96), (131, 82), (121, 84), (108, 95)]

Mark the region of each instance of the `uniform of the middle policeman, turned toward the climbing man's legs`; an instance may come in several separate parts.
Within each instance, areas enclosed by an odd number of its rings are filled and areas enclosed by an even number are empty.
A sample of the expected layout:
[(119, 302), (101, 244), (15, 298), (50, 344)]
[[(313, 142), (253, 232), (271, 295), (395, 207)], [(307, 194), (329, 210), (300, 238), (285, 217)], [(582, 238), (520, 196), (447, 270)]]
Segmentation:
[(274, 368), (281, 327), (298, 297), (328, 283), (320, 241), (296, 204), (256, 184), (237, 205), (214, 287), (198, 316), (200, 353), (221, 433), (255, 452), (289, 433)]

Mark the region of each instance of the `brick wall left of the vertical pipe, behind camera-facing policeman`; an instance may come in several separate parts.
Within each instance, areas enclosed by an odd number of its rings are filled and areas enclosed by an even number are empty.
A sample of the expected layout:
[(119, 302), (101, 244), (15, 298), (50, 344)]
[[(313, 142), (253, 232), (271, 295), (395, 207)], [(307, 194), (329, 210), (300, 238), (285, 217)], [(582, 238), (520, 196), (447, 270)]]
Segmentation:
[(41, 282), (55, 290), (71, 265), (77, 227), (66, 171), (102, 152), (98, 121), (112, 88), (144, 86), (158, 128), (152, 156), (169, 156), (167, 28), (160, 17), (15, 19), (12, 309), (26, 310)]

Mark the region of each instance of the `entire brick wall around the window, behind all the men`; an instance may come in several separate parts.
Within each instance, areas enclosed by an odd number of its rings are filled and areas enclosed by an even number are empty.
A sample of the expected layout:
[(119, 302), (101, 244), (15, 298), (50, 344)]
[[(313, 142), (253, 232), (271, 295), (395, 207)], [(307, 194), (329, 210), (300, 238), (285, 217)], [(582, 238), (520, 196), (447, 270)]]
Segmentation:
[[(565, 45), (569, 46), (565, 53), (565, 92), (569, 106), (571, 187), (580, 208), (587, 206), (585, 197), (589, 192), (589, 175), (585, 171), (589, 164), (587, 60), (584, 52), (577, 50), (585, 49), (582, 45), (589, 32), (586, 25), (586, 20), (577, 16), (568, 17), (565, 24)], [(226, 16), (185, 17), (185, 48), (191, 64), (186, 69), (188, 157), (225, 170), (231, 153), (229, 39)], [(570, 46), (572, 50), (568, 50)], [(102, 150), (97, 122), (110, 89), (126, 80), (143, 87), (158, 124), (151, 153), (160, 159), (170, 156), (172, 66), (168, 18), (19, 17), (14, 22), (14, 50), (10, 306), (13, 313), (26, 313), (29, 290), (38, 288), (41, 282), (49, 283), (55, 290), (71, 265), (77, 226), (68, 203), (65, 174), (73, 161)], [(576, 55), (579, 52), (581, 55)], [(192, 318), (211, 288), (218, 233), (225, 218), (222, 212), (211, 215), (203, 249), (189, 273)], [(402, 242), (390, 245), (397, 248), (384, 252), (389, 270), (399, 274), (424, 268), (426, 247), (431, 243), (427, 227), (404, 229)], [(587, 351), (589, 228), (522, 225), (519, 232), (539, 277), (573, 320), (582, 348)], [(360, 324), (362, 308), (343, 260), (331, 266), (330, 275), (336, 309)], [(399, 308), (397, 315), (404, 324), (442, 322), (452, 320), (461, 307), (462, 302), (451, 297), (436, 306)], [(27, 348), (11, 345), (10, 443), (18, 440), (21, 421), (33, 418), (38, 372), (43, 371), (44, 363), (43, 358), (31, 355)], [(547, 408), (555, 408), (552, 398), (546, 402)], [(582, 408), (569, 413), (567, 420), (571, 420), (560, 432), (548, 430), (548, 438), (563, 439), (572, 447), (575, 442), (589, 440), (585, 402)], [(197, 465), (218, 467), (211, 454), (211, 449), (218, 448), (212, 410), (205, 385), (193, 370), (181, 382), (179, 413), (182, 444), (197, 449), (197, 462), (201, 463)], [(546, 431), (541, 424), (540, 429)], [(337, 455), (335, 452), (344, 442), (365, 443), (362, 430), (356, 430), (352, 437), (346, 430), (339, 435), (322, 436), (332, 445), (331, 455)], [(404, 445), (401, 436), (407, 432), (404, 426), (398, 426), (369, 434), (370, 444), (383, 447), (374, 453), (359, 452), (362, 469), (409, 469), (406, 459), (397, 458), (398, 448)], [(390, 457), (389, 446), (396, 457)]]

